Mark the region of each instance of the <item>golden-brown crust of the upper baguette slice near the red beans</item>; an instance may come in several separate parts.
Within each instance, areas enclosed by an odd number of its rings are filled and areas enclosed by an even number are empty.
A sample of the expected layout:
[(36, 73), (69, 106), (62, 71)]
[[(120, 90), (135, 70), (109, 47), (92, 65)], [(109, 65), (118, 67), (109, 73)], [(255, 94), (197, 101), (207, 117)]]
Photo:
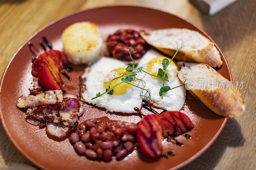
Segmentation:
[[(176, 53), (175, 49), (172, 48), (163, 48), (157, 47), (152, 42), (147, 41), (145, 35), (150, 34), (150, 32), (142, 32), (140, 33), (141, 37), (151, 46), (155, 47), (159, 51), (162, 51), (164, 54), (173, 56)], [(205, 37), (206, 38), (206, 37)], [(192, 51), (182, 51), (180, 50), (175, 59), (187, 62), (196, 62), (196, 63), (204, 63), (208, 64), (211, 67), (220, 67), (222, 65), (222, 61), (220, 59), (220, 54), (216, 54), (214, 51), (214, 44), (208, 38), (209, 44), (200, 50), (192, 50)], [(216, 49), (217, 50), (217, 49)]]

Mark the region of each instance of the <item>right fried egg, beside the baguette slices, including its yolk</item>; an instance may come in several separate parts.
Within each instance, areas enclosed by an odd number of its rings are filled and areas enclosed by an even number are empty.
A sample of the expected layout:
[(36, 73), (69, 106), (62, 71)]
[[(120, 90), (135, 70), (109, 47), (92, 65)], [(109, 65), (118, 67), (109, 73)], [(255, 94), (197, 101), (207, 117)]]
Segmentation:
[[(164, 58), (167, 58), (169, 61), (171, 60), (171, 58), (163, 56), (155, 50), (148, 50), (141, 58), (138, 66), (143, 65), (150, 74), (157, 76), (158, 69), (163, 69), (162, 61)], [(168, 85), (170, 88), (173, 88), (182, 84), (177, 77), (177, 72), (177, 66), (172, 61), (166, 70), (169, 82), (165, 81), (165, 86)], [(146, 73), (141, 73), (138, 76), (140, 76), (140, 78), (145, 76), (143, 78), (145, 81), (145, 89), (149, 89), (151, 96), (150, 100), (153, 102), (154, 106), (168, 111), (179, 111), (181, 107), (183, 107), (186, 98), (186, 89), (184, 85), (164, 93), (164, 98), (162, 99), (161, 96), (159, 96), (159, 90), (163, 86), (163, 79)]]

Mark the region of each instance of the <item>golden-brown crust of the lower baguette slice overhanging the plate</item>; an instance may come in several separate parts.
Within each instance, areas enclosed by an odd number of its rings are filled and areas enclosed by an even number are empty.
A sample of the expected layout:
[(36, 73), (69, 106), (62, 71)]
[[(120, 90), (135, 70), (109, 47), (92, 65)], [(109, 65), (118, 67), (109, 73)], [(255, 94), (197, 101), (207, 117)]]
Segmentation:
[[(180, 62), (184, 63), (184, 62)], [(203, 64), (206, 65), (206, 64)], [(185, 67), (184, 64), (180, 64), (181, 68)], [(223, 76), (221, 76), (216, 70), (206, 65), (217, 78), (217, 81), (226, 81), (230, 89), (190, 89), (189, 92), (207, 108), (212, 110), (215, 114), (225, 117), (235, 117), (244, 113), (245, 104), (241, 94), (237, 89)], [(191, 70), (192, 71), (192, 70)], [(182, 82), (181, 74), (178, 72), (178, 77)]]

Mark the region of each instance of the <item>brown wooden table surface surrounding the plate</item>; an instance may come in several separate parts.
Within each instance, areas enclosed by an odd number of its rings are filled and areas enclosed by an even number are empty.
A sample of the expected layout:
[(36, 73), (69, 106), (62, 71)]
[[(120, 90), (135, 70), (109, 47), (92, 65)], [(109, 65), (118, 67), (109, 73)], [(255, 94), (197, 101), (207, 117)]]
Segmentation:
[[(195, 23), (219, 45), (233, 80), (244, 81), (240, 92), (246, 103), (245, 113), (229, 119), (212, 146), (183, 169), (255, 169), (255, 0), (239, 0), (214, 16), (201, 13), (187, 0), (0, 0), (0, 75), (20, 45), (48, 22), (77, 10), (116, 4), (153, 7)], [(0, 168), (13, 165), (35, 168), (16, 150), (1, 126)]]

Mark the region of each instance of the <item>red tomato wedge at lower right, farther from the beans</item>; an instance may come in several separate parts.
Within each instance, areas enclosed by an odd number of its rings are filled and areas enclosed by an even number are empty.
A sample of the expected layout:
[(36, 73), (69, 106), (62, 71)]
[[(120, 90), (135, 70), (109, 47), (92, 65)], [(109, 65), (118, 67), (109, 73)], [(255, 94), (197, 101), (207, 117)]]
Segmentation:
[(163, 136), (179, 136), (194, 128), (193, 123), (187, 115), (178, 111), (167, 111), (157, 116), (162, 127)]

